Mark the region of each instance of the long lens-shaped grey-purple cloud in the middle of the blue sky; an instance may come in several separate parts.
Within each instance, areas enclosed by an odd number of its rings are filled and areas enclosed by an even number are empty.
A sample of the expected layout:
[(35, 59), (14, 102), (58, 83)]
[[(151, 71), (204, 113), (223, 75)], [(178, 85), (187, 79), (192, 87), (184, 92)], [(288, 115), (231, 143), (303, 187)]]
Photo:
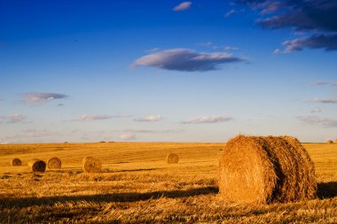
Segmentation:
[(181, 72), (205, 72), (219, 69), (220, 65), (243, 62), (245, 58), (232, 56), (230, 53), (198, 53), (189, 49), (161, 50), (138, 58), (133, 66), (154, 66), (161, 69)]

